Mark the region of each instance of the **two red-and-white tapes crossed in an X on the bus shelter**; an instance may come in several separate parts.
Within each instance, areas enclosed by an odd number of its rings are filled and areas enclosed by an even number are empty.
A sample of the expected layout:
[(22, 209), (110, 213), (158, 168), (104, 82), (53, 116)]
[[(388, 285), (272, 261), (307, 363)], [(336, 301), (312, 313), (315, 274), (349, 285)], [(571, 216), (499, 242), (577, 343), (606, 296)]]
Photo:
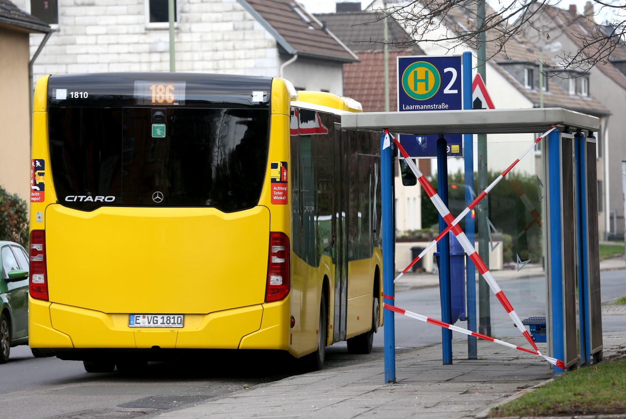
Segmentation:
[[(424, 188), (424, 191), (428, 195), (429, 199), (431, 200), (431, 202), (433, 202), (434, 206), (438, 210), (439, 215), (441, 215), (441, 217), (448, 224), (448, 227), (446, 227), (428, 246), (426, 246), (426, 249), (424, 249), (424, 251), (422, 251), (418, 255), (418, 257), (416, 257), (413, 260), (413, 262), (411, 262), (411, 264), (409, 264), (409, 266), (406, 267), (406, 269), (404, 269), (404, 271), (402, 271), (398, 275), (398, 277), (396, 277), (396, 279), (394, 279), (394, 283), (398, 281), (398, 279), (402, 277), (404, 273), (406, 273), (406, 271), (408, 271), (411, 268), (411, 266), (413, 266), (413, 264), (419, 261), (419, 259), (421, 259), (424, 256), (424, 254), (426, 254), (426, 252), (428, 252), (428, 250), (431, 249), (438, 241), (440, 241), (449, 231), (452, 231), (456, 239), (458, 239), (459, 243), (463, 247), (463, 250), (468, 254), (469, 259), (471, 259), (471, 261), (476, 266), (476, 269), (478, 269), (478, 272), (480, 272), (483, 278), (485, 278), (485, 281), (489, 285), (491, 291), (493, 291), (493, 293), (496, 295), (496, 297), (498, 298), (502, 306), (505, 308), (506, 313), (508, 313), (510, 318), (513, 320), (513, 323), (515, 323), (517, 328), (520, 329), (521, 334), (523, 334), (526, 340), (531, 344), (531, 346), (533, 346), (533, 348), (535, 349), (535, 351), (537, 351), (539, 355), (541, 355), (541, 352), (539, 351), (539, 348), (537, 348), (535, 341), (533, 341), (533, 338), (530, 336), (530, 333), (528, 333), (525, 326), (523, 326), (523, 324), (521, 323), (520, 317), (515, 312), (515, 309), (513, 309), (513, 306), (511, 306), (511, 303), (508, 301), (508, 298), (506, 298), (504, 291), (502, 291), (500, 286), (498, 286), (498, 283), (496, 282), (495, 278), (493, 277), (493, 275), (491, 275), (491, 272), (486, 267), (485, 262), (483, 262), (483, 259), (481, 259), (481, 257), (478, 255), (478, 252), (476, 252), (476, 249), (474, 248), (474, 246), (469, 242), (467, 236), (465, 235), (461, 227), (459, 227), (458, 223), (465, 217), (465, 215), (468, 214), (469, 211), (471, 211), (471, 209), (473, 209), (473, 207), (476, 206), (476, 204), (478, 204), (478, 202), (480, 202), (484, 197), (486, 197), (486, 195), (489, 192), (491, 192), (491, 190), (507, 175), (507, 173), (510, 172), (513, 169), (513, 167), (515, 167), (515, 165), (519, 163), (520, 160), (526, 154), (528, 154), (528, 152), (530, 152), (530, 150), (533, 150), (533, 148), (535, 148), (535, 145), (538, 142), (540, 142), (542, 138), (546, 137), (546, 135), (548, 135), (555, 129), (556, 127), (552, 127), (543, 135), (536, 138), (535, 142), (530, 147), (528, 147), (525, 150), (525, 152), (521, 153), (520, 157), (516, 158), (515, 162), (511, 163), (511, 165), (508, 168), (506, 168), (506, 170), (502, 172), (500, 176), (498, 176), (493, 182), (491, 182), (491, 184), (488, 187), (486, 187), (486, 189), (483, 190), (483, 192), (481, 192), (476, 197), (476, 199), (473, 200), (473, 202), (471, 202), (471, 204), (469, 204), (463, 210), (463, 212), (461, 212), (461, 214), (458, 215), (458, 217), (456, 217), (456, 219), (453, 217), (448, 207), (443, 203), (439, 195), (437, 195), (436, 191), (433, 189), (430, 182), (428, 182), (428, 179), (423, 175), (422, 172), (420, 172), (419, 168), (415, 165), (415, 162), (413, 162), (413, 159), (409, 158), (409, 155), (406, 152), (406, 150), (404, 150), (404, 147), (402, 147), (402, 145), (398, 142), (398, 140), (396, 140), (396, 138), (393, 137), (393, 135), (391, 135), (389, 133), (389, 130), (387, 129), (385, 130), (385, 138), (383, 142), (383, 148), (386, 148), (391, 145), (391, 139), (393, 139), (394, 143), (396, 143), (396, 145), (398, 146), (398, 149), (400, 150), (400, 153), (402, 157), (404, 158), (404, 161), (408, 164), (408, 166), (411, 168), (415, 176), (418, 178), (419, 184)], [(456, 327), (456, 326), (453, 326), (453, 327)]]

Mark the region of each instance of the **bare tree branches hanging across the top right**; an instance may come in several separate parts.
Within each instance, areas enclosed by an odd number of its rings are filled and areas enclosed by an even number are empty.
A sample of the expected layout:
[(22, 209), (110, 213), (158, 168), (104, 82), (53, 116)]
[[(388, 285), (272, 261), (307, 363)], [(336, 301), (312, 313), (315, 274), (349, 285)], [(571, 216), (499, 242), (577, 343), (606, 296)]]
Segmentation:
[[(530, 39), (541, 47), (550, 43), (551, 33), (562, 32), (576, 48), (559, 54), (559, 62), (552, 63), (552, 67), (585, 73), (594, 65), (626, 59), (626, 2), (592, 0), (580, 14), (558, 8), (560, 1), (498, 0), (497, 10), (486, 8), (480, 27), (479, 0), (401, 0), (386, 11), (379, 10), (377, 16), (382, 19), (386, 13), (406, 29), (405, 39), (389, 42), (394, 48), (425, 43), (436, 43), (448, 50), (458, 46), (478, 48), (478, 35), (485, 33), (490, 44), (487, 59), (491, 59), (499, 53), (506, 54), (506, 43), (511, 39)], [(608, 18), (596, 23), (594, 19), (599, 16)]]

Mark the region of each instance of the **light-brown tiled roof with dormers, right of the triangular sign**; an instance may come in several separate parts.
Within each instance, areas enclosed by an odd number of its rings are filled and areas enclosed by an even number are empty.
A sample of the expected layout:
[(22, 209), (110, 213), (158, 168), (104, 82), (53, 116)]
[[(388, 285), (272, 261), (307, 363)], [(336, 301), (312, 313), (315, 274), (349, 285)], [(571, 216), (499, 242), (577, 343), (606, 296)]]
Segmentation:
[[(487, 13), (493, 13), (493, 10), (488, 10)], [(471, 17), (463, 14), (462, 11), (457, 8), (451, 11), (451, 13), (448, 13), (447, 19), (454, 20), (457, 23), (465, 23), (471, 20)], [(498, 32), (498, 34), (500, 34), (500, 32)], [(540, 95), (538, 88), (525, 88), (525, 86), (521, 85), (520, 81), (516, 80), (516, 78), (506, 70), (507, 63), (538, 63), (539, 50), (533, 43), (528, 41), (528, 39), (517, 35), (509, 38), (503, 46), (502, 51), (498, 51), (497, 44), (493, 42), (495, 36), (495, 29), (487, 31), (486, 33), (486, 56), (492, 57), (490, 63), (493, 64), (493, 68), (504, 76), (506, 80), (517, 88), (528, 100), (532, 103), (539, 103)], [(550, 60), (544, 59), (543, 61), (546, 61), (548, 65), (555, 65), (551, 63)], [(591, 115), (606, 115), (610, 113), (610, 111), (593, 96), (570, 95), (558, 85), (553, 78), (548, 78), (548, 90), (543, 93), (543, 106), (546, 108), (566, 108)]]

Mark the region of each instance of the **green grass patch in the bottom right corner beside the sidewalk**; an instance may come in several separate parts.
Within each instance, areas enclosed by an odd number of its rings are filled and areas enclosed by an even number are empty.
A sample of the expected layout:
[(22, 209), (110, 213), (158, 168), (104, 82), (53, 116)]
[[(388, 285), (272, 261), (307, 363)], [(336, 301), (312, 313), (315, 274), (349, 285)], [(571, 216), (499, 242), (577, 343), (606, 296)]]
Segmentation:
[(626, 361), (605, 361), (570, 371), (510, 403), (489, 418), (614, 415), (626, 411)]

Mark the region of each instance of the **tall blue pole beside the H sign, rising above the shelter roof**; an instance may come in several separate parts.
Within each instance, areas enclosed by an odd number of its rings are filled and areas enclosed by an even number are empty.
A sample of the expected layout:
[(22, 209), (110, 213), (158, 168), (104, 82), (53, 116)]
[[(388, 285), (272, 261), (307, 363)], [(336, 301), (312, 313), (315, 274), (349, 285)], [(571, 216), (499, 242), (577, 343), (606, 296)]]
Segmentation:
[[(463, 109), (471, 109), (471, 53), (463, 53)], [(463, 158), (465, 160), (465, 205), (471, 204), (474, 200), (474, 136), (472, 134), (463, 135)], [(474, 239), (474, 217), (473, 212), (465, 216), (465, 235), (473, 245)], [(454, 215), (454, 214), (453, 214)], [(467, 316), (468, 329), (475, 332), (476, 329), (476, 267), (473, 262), (466, 257), (465, 276), (467, 279)], [(468, 336), (468, 360), (478, 359), (478, 347), (475, 336)]]

